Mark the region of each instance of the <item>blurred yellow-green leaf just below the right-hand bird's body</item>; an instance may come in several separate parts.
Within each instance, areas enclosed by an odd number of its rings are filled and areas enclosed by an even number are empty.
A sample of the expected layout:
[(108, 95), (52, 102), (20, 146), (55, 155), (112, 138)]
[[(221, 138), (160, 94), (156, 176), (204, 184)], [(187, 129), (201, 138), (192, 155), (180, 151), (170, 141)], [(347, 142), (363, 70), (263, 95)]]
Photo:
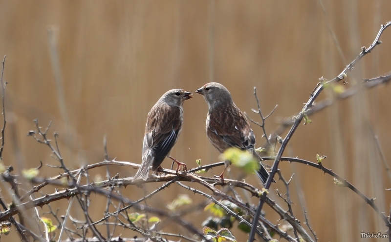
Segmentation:
[(231, 161), (232, 164), (242, 168), (246, 173), (254, 174), (260, 167), (253, 154), (238, 148), (229, 148), (220, 155), (220, 160)]

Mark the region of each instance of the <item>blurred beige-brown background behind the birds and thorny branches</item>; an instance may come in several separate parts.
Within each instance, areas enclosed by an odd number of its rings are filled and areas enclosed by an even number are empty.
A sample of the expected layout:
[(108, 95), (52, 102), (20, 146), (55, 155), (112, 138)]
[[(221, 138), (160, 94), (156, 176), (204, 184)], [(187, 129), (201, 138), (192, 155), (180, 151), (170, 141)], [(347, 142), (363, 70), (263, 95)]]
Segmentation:
[[(34, 129), (34, 119), (39, 119), (41, 126), (53, 122), (50, 133), (60, 133), (60, 148), (72, 169), (103, 161), (104, 136), (110, 159), (139, 163), (146, 116), (153, 104), (169, 89), (194, 92), (210, 81), (225, 85), (239, 108), (253, 119), (259, 120), (251, 112), (256, 108), (254, 86), (264, 114), (278, 104), (266, 121), (270, 133), (279, 120), (301, 111), (319, 78), (337, 76), (362, 46), (369, 47), (380, 24), (391, 21), (389, 0), (323, 0), (323, 5), (324, 10), (317, 0), (1, 0), (0, 57), (7, 56), (4, 80), (8, 82), (4, 163), (13, 165), (16, 171), (37, 167), (40, 161), (58, 164), (50, 158), (47, 147), (26, 137)], [(60, 86), (56, 85), (59, 82), (48, 29), (54, 29), (57, 40)], [(381, 40), (383, 43), (348, 74), (346, 88), (361, 82), (361, 78), (391, 71), (391, 29)], [(368, 197), (376, 198), (376, 204), (388, 215), (391, 196), (385, 188), (390, 188), (391, 180), (369, 123), (389, 161), (390, 93), (388, 85), (362, 90), (312, 116), (312, 124), (300, 125), (284, 156), (315, 161), (316, 154), (326, 155), (326, 167), (346, 177)], [(318, 101), (331, 94), (324, 91)], [(184, 105), (184, 129), (172, 156), (188, 167), (194, 167), (196, 159), (203, 164), (218, 161), (218, 152), (205, 135), (206, 113), (207, 105), (197, 94)], [(263, 145), (261, 129), (252, 127), (257, 145)], [(163, 163), (164, 167), (170, 165), (168, 160)], [(369, 205), (347, 188), (335, 186), (332, 177), (301, 164), (282, 162), (280, 168), (286, 179), (295, 173), (291, 183), (293, 211), (304, 223), (305, 206), (320, 241), (358, 241), (360, 232), (386, 230)], [(40, 175), (51, 177), (60, 171), (43, 167)], [(231, 171), (235, 177), (235, 169)], [(110, 167), (110, 172), (129, 177), (136, 171)], [(219, 172), (214, 169), (208, 174)], [(105, 177), (106, 171), (102, 168), (91, 175), (98, 173)], [(246, 181), (261, 187), (254, 177)], [(148, 185), (147, 191), (160, 185)], [(272, 198), (286, 207), (276, 198), (276, 188), (285, 192), (278, 182), (271, 188)], [(1, 190), (1, 196), (10, 202), (7, 186), (1, 185)], [(54, 188), (42, 192), (52, 193)], [(164, 208), (182, 193), (203, 201), (172, 185), (148, 204)], [(127, 187), (124, 194), (136, 200), (144, 190)], [(105, 202), (96, 195), (90, 207), (93, 219), (103, 216)], [(64, 214), (67, 204), (59, 201), (52, 206), (61, 207), (60, 214)], [(268, 207), (265, 209), (270, 221), (279, 219)], [(47, 208), (39, 211), (43, 213)], [(75, 208), (74, 213), (77, 211)], [(201, 210), (184, 219), (201, 228), (208, 216)], [(183, 233), (174, 223), (162, 229)], [(238, 241), (246, 241), (247, 235), (232, 231)], [(14, 241), (15, 233), (1, 239)], [(120, 234), (136, 235), (118, 228), (116, 235)]]

